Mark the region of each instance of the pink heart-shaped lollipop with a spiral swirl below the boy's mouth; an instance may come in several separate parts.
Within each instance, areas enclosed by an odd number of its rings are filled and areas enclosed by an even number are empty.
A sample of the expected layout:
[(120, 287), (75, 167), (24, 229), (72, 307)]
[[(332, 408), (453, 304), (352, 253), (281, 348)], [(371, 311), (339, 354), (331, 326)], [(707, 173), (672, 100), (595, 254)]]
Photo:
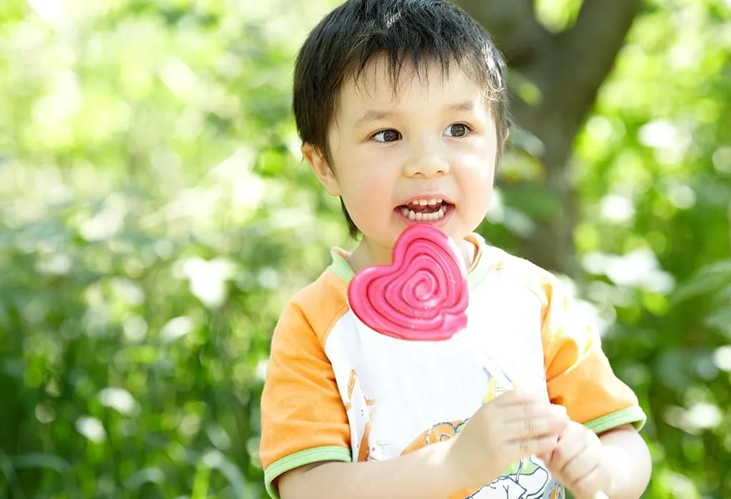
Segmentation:
[(393, 248), (393, 264), (363, 269), (348, 301), (371, 329), (405, 340), (449, 339), (467, 325), (467, 272), (442, 229), (412, 225)]

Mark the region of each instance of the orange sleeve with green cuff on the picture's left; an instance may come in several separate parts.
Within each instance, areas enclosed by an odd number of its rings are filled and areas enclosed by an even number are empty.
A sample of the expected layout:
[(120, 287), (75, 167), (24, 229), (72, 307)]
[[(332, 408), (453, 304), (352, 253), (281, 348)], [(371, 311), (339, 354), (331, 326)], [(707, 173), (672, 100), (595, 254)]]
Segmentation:
[(296, 301), (290, 302), (272, 337), (261, 401), (260, 459), (274, 498), (282, 473), (321, 461), (351, 460), (344, 404), (310, 319)]

